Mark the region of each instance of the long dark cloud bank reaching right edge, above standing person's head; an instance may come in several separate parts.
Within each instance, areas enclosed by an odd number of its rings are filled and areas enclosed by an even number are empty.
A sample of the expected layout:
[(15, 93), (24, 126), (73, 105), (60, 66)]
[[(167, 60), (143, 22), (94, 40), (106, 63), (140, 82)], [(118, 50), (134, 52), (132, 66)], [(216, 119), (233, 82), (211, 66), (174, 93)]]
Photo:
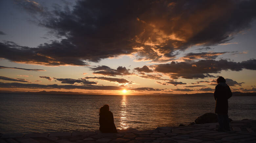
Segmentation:
[(170, 64), (154, 65), (156, 72), (165, 73), (173, 79), (187, 78), (198, 79), (215, 77), (208, 73), (220, 73), (222, 70), (242, 71), (243, 69), (256, 70), (256, 59), (243, 62), (227, 60), (199, 60), (197, 62), (171, 62)]

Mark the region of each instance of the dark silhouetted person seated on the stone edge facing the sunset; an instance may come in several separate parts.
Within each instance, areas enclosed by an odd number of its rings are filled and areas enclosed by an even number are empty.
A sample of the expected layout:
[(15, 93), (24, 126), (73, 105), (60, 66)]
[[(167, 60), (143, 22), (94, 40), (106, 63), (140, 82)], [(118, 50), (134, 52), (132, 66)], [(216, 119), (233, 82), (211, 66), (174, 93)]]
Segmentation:
[(113, 113), (109, 111), (108, 104), (99, 109), (99, 125), (101, 133), (117, 133)]

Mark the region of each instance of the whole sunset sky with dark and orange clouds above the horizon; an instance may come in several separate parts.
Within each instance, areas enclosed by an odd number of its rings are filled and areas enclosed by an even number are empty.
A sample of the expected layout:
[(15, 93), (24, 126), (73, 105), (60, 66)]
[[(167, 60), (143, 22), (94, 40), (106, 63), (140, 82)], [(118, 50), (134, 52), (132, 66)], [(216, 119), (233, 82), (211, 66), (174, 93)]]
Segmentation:
[(0, 90), (256, 92), (256, 1), (0, 1)]

